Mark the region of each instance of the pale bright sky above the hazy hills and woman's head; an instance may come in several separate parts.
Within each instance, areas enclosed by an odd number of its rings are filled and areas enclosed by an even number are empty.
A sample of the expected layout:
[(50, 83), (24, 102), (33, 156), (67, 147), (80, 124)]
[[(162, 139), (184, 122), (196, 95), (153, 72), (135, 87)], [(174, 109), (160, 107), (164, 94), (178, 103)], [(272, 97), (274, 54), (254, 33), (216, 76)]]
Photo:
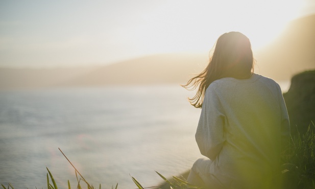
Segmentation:
[(106, 65), (162, 53), (209, 52), (223, 33), (253, 49), (288, 21), (315, 13), (315, 0), (0, 0), (0, 66)]

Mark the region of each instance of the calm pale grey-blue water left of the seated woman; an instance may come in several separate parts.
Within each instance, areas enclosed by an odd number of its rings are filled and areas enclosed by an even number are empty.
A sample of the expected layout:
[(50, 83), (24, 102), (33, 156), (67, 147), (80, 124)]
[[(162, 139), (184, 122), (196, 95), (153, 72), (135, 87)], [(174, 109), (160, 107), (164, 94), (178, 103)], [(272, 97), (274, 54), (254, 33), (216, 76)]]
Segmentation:
[[(94, 186), (136, 188), (188, 170), (200, 157), (200, 109), (175, 86), (0, 91), (0, 183), (45, 188), (46, 167), (60, 188), (75, 171)], [(191, 95), (190, 95), (191, 96)]]

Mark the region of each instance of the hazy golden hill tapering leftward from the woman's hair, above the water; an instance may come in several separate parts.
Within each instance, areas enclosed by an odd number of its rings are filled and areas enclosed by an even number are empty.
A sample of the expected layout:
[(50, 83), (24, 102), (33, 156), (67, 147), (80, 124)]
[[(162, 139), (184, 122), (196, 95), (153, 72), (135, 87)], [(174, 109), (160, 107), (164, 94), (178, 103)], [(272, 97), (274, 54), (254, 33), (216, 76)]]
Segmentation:
[(118, 62), (90, 72), (64, 85), (185, 84), (208, 62), (199, 54), (162, 54)]

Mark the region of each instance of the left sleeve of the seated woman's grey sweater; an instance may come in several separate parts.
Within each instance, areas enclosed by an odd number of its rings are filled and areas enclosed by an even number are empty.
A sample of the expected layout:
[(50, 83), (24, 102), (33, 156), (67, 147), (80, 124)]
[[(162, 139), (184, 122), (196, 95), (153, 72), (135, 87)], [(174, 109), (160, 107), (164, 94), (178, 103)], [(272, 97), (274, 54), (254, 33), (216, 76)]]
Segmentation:
[(215, 91), (215, 86), (210, 85), (205, 93), (195, 135), (202, 155), (214, 160), (220, 153), (225, 141), (225, 122), (226, 117), (220, 99)]

